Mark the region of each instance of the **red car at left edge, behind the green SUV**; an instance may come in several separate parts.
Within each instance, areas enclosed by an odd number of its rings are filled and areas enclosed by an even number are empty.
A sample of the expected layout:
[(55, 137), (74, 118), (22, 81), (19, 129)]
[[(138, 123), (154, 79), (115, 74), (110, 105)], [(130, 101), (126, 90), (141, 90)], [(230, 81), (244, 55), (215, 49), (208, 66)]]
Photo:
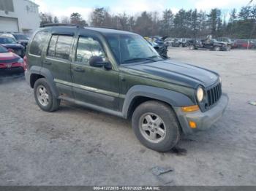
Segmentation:
[(0, 45), (0, 74), (24, 72), (26, 65), (20, 56)]

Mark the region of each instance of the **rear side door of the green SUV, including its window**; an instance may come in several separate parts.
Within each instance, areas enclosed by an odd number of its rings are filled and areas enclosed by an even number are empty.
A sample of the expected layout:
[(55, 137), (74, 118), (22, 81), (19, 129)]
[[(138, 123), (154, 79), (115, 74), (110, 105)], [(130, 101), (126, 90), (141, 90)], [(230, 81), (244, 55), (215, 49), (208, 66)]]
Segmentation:
[(53, 31), (42, 66), (53, 75), (61, 96), (73, 97), (70, 66), (75, 31)]

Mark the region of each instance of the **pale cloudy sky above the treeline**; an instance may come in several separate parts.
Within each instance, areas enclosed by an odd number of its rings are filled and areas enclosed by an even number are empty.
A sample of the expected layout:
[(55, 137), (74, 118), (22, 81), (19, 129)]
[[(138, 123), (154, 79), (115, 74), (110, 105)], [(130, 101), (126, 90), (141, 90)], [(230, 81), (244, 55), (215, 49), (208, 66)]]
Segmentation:
[(249, 0), (31, 0), (39, 4), (39, 12), (50, 12), (57, 17), (64, 17), (79, 12), (85, 20), (89, 20), (91, 11), (96, 7), (107, 7), (112, 13), (126, 12), (136, 15), (143, 11), (162, 12), (171, 9), (174, 13), (178, 9), (220, 8), (228, 14), (230, 9), (245, 6)]

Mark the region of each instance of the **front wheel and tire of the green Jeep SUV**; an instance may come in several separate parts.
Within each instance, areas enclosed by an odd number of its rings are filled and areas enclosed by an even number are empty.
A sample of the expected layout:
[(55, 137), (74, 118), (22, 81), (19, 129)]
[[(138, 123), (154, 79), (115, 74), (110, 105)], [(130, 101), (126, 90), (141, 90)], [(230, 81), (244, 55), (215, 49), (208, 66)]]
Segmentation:
[(158, 152), (170, 151), (181, 136), (173, 109), (159, 101), (140, 104), (132, 114), (132, 128), (141, 144)]

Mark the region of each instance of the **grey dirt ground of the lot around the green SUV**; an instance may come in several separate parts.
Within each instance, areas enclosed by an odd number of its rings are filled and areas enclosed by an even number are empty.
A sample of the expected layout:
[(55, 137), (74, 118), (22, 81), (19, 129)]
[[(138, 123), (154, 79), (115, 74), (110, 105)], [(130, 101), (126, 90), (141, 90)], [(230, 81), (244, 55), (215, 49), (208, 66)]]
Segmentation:
[[(0, 79), (1, 185), (255, 185), (256, 51), (170, 48), (171, 59), (222, 75), (230, 97), (211, 129), (171, 152), (143, 147), (130, 122), (62, 103), (42, 112), (23, 76)], [(171, 168), (155, 175), (156, 168)]]

